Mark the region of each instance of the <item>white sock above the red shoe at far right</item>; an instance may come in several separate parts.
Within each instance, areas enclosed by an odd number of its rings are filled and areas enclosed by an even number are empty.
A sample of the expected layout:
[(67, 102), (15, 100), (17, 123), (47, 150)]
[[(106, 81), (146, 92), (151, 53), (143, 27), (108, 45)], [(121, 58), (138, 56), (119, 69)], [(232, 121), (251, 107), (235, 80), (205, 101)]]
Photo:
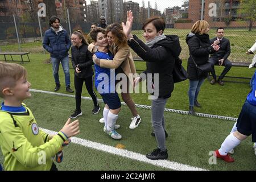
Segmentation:
[(221, 148), (218, 150), (220, 155), (226, 155), (232, 148), (238, 146), (241, 141), (237, 139), (233, 133), (230, 133), (228, 137), (224, 140), (224, 142), (221, 144)]

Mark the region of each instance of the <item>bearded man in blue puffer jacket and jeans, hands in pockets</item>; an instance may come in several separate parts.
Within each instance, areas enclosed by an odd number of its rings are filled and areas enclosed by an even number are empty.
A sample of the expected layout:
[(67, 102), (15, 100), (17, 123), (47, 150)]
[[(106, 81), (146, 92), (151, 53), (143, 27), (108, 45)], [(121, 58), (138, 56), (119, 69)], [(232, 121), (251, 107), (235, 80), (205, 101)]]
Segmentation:
[(68, 51), (71, 47), (71, 41), (69, 39), (68, 33), (60, 25), (60, 19), (57, 16), (52, 16), (49, 19), (49, 30), (46, 31), (44, 35), (43, 47), (51, 53), (53, 77), (55, 79), (55, 89), (60, 89), (59, 80), (59, 66), (60, 62), (65, 74), (65, 85), (66, 91), (73, 93), (74, 91), (70, 88), (70, 75), (69, 75), (69, 59)]

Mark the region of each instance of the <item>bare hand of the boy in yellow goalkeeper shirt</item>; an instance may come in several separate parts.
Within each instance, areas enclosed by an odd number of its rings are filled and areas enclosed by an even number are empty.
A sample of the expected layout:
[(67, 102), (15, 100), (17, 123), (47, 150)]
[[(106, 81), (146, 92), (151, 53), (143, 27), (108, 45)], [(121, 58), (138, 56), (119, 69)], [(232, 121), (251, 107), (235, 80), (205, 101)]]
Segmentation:
[(77, 119), (71, 122), (71, 118), (68, 118), (68, 121), (65, 123), (65, 125), (60, 131), (67, 135), (68, 138), (79, 134), (79, 120)]

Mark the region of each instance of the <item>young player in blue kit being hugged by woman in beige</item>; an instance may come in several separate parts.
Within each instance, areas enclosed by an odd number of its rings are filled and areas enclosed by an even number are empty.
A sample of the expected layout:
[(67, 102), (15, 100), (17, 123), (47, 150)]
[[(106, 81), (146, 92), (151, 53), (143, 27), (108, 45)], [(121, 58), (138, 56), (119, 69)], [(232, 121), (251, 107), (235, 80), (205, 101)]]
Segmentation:
[[(99, 59), (112, 60), (113, 55), (110, 52), (104, 52), (105, 47), (108, 46), (108, 41), (105, 35), (106, 31), (103, 28), (97, 28), (90, 32), (90, 36), (98, 46), (98, 50), (95, 55)], [(122, 135), (117, 133), (115, 129), (119, 128), (119, 125), (115, 125), (118, 118), (118, 113), (121, 109), (121, 102), (117, 92), (115, 92), (115, 70), (109, 68), (101, 68), (98, 65), (94, 65), (95, 68), (95, 86), (98, 93), (104, 101), (105, 107), (103, 110), (104, 117), (104, 131), (109, 134), (113, 139), (121, 139)]]

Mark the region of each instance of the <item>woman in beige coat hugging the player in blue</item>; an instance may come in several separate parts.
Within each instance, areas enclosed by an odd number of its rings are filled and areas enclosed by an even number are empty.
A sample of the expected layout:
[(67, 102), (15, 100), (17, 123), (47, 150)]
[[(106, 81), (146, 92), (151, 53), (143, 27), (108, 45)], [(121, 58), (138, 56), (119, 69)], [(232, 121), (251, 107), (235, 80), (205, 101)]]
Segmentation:
[[(119, 23), (110, 24), (106, 29), (106, 35), (108, 38), (109, 51), (113, 53), (113, 60), (98, 59), (95, 55), (93, 61), (95, 64), (102, 68), (115, 69), (117, 73), (125, 73), (128, 78), (127, 86), (121, 86), (121, 96), (123, 101), (130, 108), (133, 118), (131, 118), (130, 129), (135, 129), (141, 123), (141, 117), (135, 108), (134, 101), (132, 100), (129, 88), (133, 88), (133, 75), (136, 73), (133, 56), (131, 55), (130, 47), (127, 44), (127, 38), (123, 34), (123, 28)], [(97, 47), (94, 44), (90, 44), (88, 50), (95, 52)], [(118, 84), (119, 81), (116, 82)], [(100, 122), (104, 122), (104, 118), (100, 119)]]

